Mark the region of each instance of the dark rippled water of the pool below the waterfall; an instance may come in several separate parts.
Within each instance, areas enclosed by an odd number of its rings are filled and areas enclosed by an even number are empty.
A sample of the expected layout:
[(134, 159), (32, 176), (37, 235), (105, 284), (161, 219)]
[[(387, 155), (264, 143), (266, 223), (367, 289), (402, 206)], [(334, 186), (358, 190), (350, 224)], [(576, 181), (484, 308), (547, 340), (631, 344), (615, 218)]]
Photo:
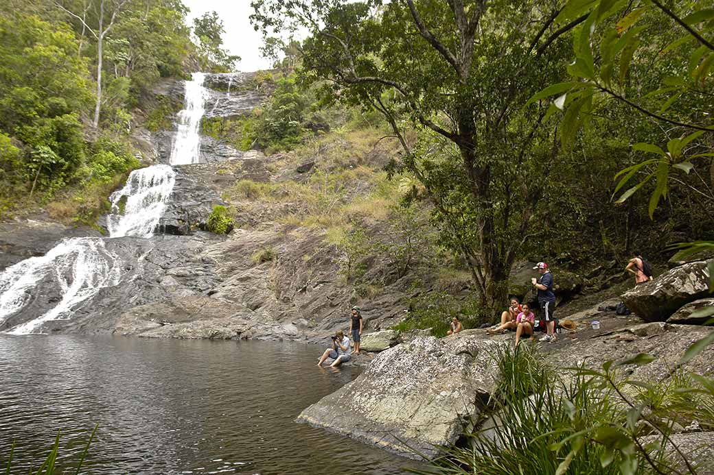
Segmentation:
[(358, 375), (318, 369), (321, 349), (0, 335), (0, 471), (26, 473), (61, 430), (71, 467), (99, 424), (92, 474), (398, 474), (413, 462), (295, 417)]

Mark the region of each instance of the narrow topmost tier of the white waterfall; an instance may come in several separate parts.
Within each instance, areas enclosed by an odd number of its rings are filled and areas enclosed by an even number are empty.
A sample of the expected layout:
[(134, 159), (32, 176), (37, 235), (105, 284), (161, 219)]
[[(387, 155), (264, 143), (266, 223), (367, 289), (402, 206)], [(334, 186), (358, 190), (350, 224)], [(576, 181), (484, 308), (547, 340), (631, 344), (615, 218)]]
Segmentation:
[(201, 118), (206, 112), (203, 103), (206, 88), (203, 87), (204, 73), (193, 73), (191, 81), (186, 81), (186, 108), (178, 113), (178, 132), (171, 148), (171, 165), (198, 163), (201, 149)]

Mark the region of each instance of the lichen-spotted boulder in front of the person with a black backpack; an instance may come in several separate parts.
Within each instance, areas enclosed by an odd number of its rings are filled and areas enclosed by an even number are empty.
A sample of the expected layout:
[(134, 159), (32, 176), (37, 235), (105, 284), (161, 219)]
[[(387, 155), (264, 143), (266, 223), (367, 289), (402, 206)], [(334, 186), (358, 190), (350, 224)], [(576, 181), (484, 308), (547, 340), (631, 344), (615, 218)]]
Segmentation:
[(625, 305), (645, 322), (664, 322), (680, 307), (709, 296), (707, 262), (688, 262), (628, 290)]

